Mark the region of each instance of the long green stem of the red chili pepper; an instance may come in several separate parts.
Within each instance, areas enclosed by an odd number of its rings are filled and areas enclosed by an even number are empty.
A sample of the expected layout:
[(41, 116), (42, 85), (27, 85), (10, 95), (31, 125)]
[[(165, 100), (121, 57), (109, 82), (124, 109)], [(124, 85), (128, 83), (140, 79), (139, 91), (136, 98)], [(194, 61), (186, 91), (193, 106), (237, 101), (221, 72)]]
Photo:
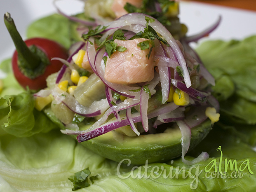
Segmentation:
[(5, 26), (12, 37), (12, 40), (16, 47), (16, 51), (18, 52), (19, 57), (22, 57), (22, 60), (24, 61), (23, 65), (25, 65), (25, 67), (28, 69), (37, 68), (41, 63), (41, 59), (37, 55), (33, 54), (28, 48), (28, 46), (26, 45), (26, 43), (22, 40), (21, 35), (16, 29), (16, 26), (11, 17), (11, 14), (6, 12), (4, 15), (4, 21), (5, 21)]

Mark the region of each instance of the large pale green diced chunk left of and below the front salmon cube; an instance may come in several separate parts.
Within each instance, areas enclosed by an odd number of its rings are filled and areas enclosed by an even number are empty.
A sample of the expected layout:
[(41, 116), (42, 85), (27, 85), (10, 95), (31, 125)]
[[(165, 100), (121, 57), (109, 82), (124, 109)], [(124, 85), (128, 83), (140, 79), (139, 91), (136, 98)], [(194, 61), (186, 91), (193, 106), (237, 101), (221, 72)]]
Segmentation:
[(105, 84), (96, 74), (92, 74), (85, 83), (75, 89), (74, 97), (81, 105), (90, 106), (94, 101), (106, 98)]

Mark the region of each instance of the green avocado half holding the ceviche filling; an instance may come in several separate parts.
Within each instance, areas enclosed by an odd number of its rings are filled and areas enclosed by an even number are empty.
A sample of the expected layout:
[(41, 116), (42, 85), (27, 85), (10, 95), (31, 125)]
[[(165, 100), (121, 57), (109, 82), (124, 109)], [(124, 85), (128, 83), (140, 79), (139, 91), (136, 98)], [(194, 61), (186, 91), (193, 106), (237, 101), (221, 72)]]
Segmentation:
[[(65, 129), (51, 109), (46, 109), (45, 114), (61, 129)], [(79, 124), (80, 126), (80, 124)], [(83, 129), (91, 125), (83, 125)], [(190, 148), (192, 150), (202, 141), (211, 130), (209, 119), (191, 129)], [(76, 140), (76, 135), (71, 135)], [(181, 156), (181, 131), (178, 126), (167, 128), (164, 133), (140, 135), (129, 137), (110, 131), (99, 137), (80, 143), (102, 157), (120, 162), (123, 159), (130, 159), (132, 164), (145, 164), (153, 162), (166, 162)], [(127, 162), (127, 161), (125, 161)]]

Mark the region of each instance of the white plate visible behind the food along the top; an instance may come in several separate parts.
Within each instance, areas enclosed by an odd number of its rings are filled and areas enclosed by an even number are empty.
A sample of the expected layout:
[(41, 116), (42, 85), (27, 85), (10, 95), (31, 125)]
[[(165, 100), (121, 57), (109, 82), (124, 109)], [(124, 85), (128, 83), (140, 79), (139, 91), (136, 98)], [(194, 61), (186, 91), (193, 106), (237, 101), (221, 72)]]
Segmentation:
[[(68, 14), (81, 12), (83, 9), (83, 3), (80, 0), (62, 0), (57, 1), (57, 3)], [(2, 15), (5, 12), (12, 15), (23, 39), (26, 38), (26, 28), (29, 23), (56, 12), (53, 0), (2, 1), (0, 10)], [(253, 24), (256, 21), (256, 12), (189, 1), (181, 1), (180, 3), (180, 20), (188, 26), (188, 35), (193, 35), (207, 28), (218, 19), (219, 15), (222, 16), (221, 25), (204, 40), (230, 40), (234, 38), (240, 40), (256, 34), (256, 25)], [(0, 19), (0, 29), (0, 61), (2, 61), (10, 58), (15, 48), (3, 19)]]

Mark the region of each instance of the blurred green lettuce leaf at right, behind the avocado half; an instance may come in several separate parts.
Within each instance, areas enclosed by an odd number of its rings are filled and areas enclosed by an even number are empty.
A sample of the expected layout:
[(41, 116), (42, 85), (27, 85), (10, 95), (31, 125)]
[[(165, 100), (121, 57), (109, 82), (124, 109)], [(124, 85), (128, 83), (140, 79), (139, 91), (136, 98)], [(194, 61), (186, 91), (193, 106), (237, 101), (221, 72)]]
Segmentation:
[[(197, 52), (216, 79), (223, 129), (256, 145), (256, 35), (244, 40), (203, 42)], [(246, 127), (243, 129), (243, 127)]]

